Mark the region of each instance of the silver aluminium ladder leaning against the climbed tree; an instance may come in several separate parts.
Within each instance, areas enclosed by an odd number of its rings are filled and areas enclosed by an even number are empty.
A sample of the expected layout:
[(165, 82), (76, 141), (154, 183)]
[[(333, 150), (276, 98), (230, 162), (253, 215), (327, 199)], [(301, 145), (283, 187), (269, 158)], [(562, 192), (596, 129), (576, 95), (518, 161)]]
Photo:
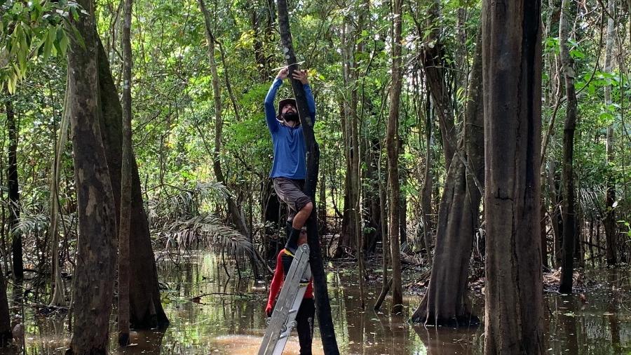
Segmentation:
[(309, 246), (298, 247), (292, 266), (285, 276), (283, 288), (276, 301), (269, 324), (265, 330), (259, 355), (280, 355), (285, 349), (287, 339), (296, 326), (296, 314), (304, 297), (304, 292), (311, 279), (309, 267)]

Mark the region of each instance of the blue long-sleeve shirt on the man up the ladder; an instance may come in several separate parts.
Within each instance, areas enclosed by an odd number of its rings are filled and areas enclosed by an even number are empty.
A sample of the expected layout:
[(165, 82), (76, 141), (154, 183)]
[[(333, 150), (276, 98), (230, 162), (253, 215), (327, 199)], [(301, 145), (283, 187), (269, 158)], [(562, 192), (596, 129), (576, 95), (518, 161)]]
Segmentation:
[[(265, 97), (265, 119), (274, 146), (274, 161), (269, 177), (301, 180), (306, 176), (306, 147), (302, 126), (290, 127), (276, 119), (274, 99), (276, 98), (276, 91), (282, 84), (283, 80), (274, 79)], [(315, 101), (313, 100), (313, 93), (311, 93), (311, 86), (304, 84), (303, 88), (311, 119), (315, 123)]]

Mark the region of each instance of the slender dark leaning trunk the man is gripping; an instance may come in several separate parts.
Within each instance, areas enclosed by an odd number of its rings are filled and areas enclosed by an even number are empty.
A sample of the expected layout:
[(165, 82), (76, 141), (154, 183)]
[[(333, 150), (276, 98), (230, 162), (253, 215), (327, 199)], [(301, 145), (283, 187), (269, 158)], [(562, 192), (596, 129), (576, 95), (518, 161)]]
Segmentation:
[[(287, 3), (285, 0), (278, 0), (278, 25), (280, 27), (280, 39), (283, 44), (283, 53), (290, 69), (290, 75), (294, 70), (298, 69), (295, 64), (296, 56), (294, 55), (294, 46), (292, 43), (292, 33), (290, 30), (289, 15), (287, 13)], [(304, 135), (304, 142), (307, 148), (306, 161), (306, 180), (303, 191), (307, 196), (311, 197), (311, 201), (315, 201), (315, 189), (318, 184), (318, 168), (320, 164), (320, 148), (318, 142), (315, 142), (313, 134), (313, 117), (309, 114), (307, 107), (304, 88), (300, 81), (291, 79), (294, 98), (300, 116), (300, 123)], [(315, 310), (318, 314), (318, 323), (320, 325), (320, 337), (325, 354), (337, 355), (337, 340), (335, 340), (335, 329), (333, 328), (333, 318), (331, 315), (331, 304), (329, 302), (329, 292), (327, 287), (327, 279), (322, 260), (322, 251), (320, 250), (320, 236), (318, 236), (318, 216), (317, 208), (311, 212), (311, 216), (306, 221), (307, 240), (311, 254), (309, 255), (309, 264), (311, 264), (311, 272), (313, 274), (313, 286), (315, 291)]]

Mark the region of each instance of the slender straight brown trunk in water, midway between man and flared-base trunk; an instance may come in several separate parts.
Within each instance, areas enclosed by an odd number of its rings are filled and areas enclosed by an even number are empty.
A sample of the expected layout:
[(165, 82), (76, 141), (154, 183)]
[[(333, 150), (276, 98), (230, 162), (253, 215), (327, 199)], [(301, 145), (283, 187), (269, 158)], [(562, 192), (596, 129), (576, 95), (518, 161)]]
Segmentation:
[(402, 88), (401, 74), (401, 8), (402, 0), (393, 0), (392, 37), (392, 86), (390, 88), (390, 111), (386, 128), (386, 151), (388, 152), (388, 185), (390, 185), (390, 255), (392, 261), (392, 304), (393, 313), (403, 310), (403, 290), (401, 285), (401, 256), (399, 245), (399, 101)]

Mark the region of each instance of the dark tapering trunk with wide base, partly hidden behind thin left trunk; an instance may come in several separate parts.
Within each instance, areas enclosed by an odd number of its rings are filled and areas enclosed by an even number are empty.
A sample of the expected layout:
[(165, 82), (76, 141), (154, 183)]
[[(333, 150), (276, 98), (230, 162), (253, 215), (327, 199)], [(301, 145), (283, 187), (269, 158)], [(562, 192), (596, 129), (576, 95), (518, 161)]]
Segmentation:
[[(101, 100), (100, 128), (107, 165), (114, 190), (116, 217), (120, 218), (121, 206), (121, 166), (123, 147), (123, 108), (118, 99), (118, 92), (109, 69), (109, 62), (100, 39), (97, 37), (99, 50), (99, 87)], [(158, 272), (156, 259), (149, 236), (149, 221), (144, 212), (142, 187), (138, 166), (133, 152), (130, 152), (132, 173), (131, 219), (129, 245), (134, 250), (130, 255), (130, 323), (133, 328), (149, 329), (158, 326), (165, 328), (169, 321), (162, 308), (160, 290), (158, 290)]]

